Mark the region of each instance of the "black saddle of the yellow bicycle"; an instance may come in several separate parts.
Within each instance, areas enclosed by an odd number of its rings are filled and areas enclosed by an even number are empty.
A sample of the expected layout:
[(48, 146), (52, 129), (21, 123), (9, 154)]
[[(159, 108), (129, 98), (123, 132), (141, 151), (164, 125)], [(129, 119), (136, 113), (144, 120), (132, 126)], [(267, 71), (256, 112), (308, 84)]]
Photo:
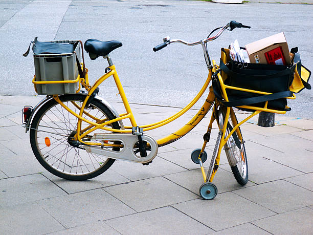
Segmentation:
[(91, 59), (97, 59), (99, 56), (106, 56), (111, 51), (122, 47), (120, 41), (99, 41), (97, 39), (88, 39), (85, 41), (84, 49), (89, 53)]

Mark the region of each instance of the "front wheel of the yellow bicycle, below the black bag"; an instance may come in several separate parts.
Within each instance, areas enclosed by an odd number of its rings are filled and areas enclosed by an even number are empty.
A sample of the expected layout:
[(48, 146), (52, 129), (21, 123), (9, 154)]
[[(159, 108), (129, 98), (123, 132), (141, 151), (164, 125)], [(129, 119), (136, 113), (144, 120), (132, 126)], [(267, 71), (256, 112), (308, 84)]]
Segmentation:
[[(226, 117), (226, 107), (219, 107), (218, 115), (219, 115), (219, 123), (221, 125), (224, 123), (224, 120)], [(222, 117), (222, 120), (220, 120), (221, 117)], [(237, 121), (236, 115), (235, 115), (235, 118)], [(228, 136), (228, 134), (233, 130), (233, 127), (234, 127), (233, 122), (230, 117), (229, 117), (228, 123), (229, 124), (227, 125), (225, 137)], [(238, 129), (241, 134), (240, 127), (238, 127)], [(234, 132), (233, 135), (228, 139), (224, 148), (225, 148), (225, 152), (228, 158), (231, 158), (231, 160), (230, 159), (228, 160), (229, 160), (229, 164), (231, 166), (231, 169), (232, 169), (232, 172), (236, 181), (240, 185), (247, 184), (248, 161), (247, 161), (247, 154), (245, 153), (244, 141), (243, 140), (240, 141), (237, 136), (237, 133)], [(234, 162), (235, 164), (234, 163), (231, 164), (231, 162)]]

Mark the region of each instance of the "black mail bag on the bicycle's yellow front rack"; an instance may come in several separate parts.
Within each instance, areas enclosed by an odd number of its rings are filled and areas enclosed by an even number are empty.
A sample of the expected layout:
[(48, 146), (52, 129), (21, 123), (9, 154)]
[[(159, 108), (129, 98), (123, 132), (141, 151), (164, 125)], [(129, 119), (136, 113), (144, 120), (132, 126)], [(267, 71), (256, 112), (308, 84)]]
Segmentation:
[[(261, 65), (258, 63), (241, 63), (233, 60), (230, 60), (225, 65), (220, 60), (220, 69), (227, 74), (226, 85), (273, 94), (261, 95), (227, 89), (229, 102), (226, 102), (221, 98), (220, 91), (217, 92), (217, 90), (220, 90), (217, 87), (219, 84), (214, 79), (213, 90), (214, 93), (219, 93), (215, 94), (215, 96), (226, 106), (250, 105), (263, 108), (265, 101), (269, 101), (267, 104), (268, 109), (289, 111), (290, 108), (286, 107), (287, 101), (285, 97), (293, 95), (293, 92), (289, 91), (289, 86), (293, 81), (295, 68), (296, 65)], [(251, 111), (249, 109), (239, 109)]]

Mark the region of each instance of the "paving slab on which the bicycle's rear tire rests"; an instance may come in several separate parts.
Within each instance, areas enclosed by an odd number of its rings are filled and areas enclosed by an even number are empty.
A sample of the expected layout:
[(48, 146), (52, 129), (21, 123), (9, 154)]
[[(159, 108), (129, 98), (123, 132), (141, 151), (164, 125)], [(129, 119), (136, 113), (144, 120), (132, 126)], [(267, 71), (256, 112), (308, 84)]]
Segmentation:
[(100, 176), (97, 176), (96, 178), (83, 181), (64, 180), (47, 171), (43, 172), (42, 175), (46, 176), (53, 183), (58, 185), (69, 194), (129, 182), (128, 179), (111, 169), (107, 169), (104, 173), (102, 173)]

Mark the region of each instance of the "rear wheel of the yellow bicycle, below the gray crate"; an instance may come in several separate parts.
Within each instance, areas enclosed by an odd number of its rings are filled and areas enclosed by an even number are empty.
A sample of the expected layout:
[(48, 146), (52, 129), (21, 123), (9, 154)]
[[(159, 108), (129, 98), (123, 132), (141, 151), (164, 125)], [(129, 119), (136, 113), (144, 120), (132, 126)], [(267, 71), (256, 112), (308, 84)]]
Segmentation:
[[(81, 106), (86, 95), (60, 95), (60, 100), (70, 106), (71, 110), (79, 114), (79, 109), (74, 105)], [(99, 100), (93, 99), (82, 115), (84, 118), (95, 120), (86, 114), (99, 119), (114, 119), (115, 115)], [(82, 128), (88, 126), (82, 122)], [(110, 124), (114, 129), (120, 129), (118, 122)], [(50, 173), (68, 180), (87, 180), (99, 176), (107, 170), (115, 159), (105, 156), (87, 153), (83, 145), (73, 142), (73, 136), (77, 130), (77, 118), (67, 112), (54, 99), (44, 103), (36, 112), (30, 130), (30, 143), (33, 153), (39, 163)], [(98, 129), (88, 134), (106, 133)], [(48, 138), (48, 139), (47, 139)], [(48, 145), (50, 142), (50, 146)], [(88, 141), (88, 140), (85, 140)], [(95, 142), (95, 141), (94, 141)], [(119, 147), (111, 147), (113, 151), (119, 151)]]

